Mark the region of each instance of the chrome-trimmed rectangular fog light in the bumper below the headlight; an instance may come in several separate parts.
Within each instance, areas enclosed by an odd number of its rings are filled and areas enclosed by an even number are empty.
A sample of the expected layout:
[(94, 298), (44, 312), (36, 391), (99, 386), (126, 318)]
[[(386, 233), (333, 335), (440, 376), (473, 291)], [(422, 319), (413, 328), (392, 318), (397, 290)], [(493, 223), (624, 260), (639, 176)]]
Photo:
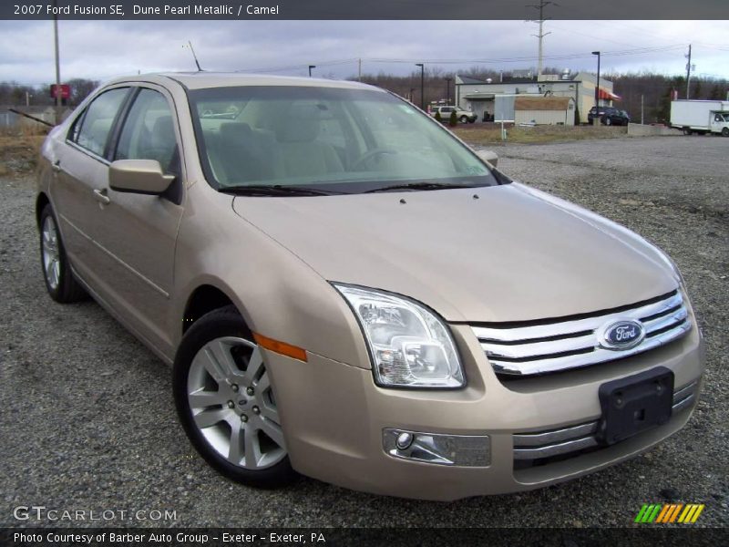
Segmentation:
[(382, 442), (385, 453), (393, 458), (463, 467), (487, 467), (491, 463), (488, 435), (444, 435), (386, 428)]

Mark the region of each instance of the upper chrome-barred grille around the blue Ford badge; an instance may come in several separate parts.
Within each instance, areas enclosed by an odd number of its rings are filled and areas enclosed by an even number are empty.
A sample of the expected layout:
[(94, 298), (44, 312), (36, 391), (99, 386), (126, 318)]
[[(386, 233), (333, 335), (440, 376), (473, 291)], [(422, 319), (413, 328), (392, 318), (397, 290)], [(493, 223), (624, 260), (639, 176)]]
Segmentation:
[[(621, 320), (642, 324), (645, 337), (629, 349), (601, 346), (606, 326)], [(685, 335), (691, 328), (680, 291), (594, 315), (524, 323), (472, 325), (498, 375), (530, 376), (632, 356)]]

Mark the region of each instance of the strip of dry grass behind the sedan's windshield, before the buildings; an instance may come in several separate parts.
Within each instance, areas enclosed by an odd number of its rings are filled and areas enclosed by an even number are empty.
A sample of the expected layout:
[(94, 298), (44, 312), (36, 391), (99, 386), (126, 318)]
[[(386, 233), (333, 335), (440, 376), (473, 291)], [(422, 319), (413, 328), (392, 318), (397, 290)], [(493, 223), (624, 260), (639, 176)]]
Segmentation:
[[(501, 140), (501, 127), (497, 124), (463, 125), (452, 130), (460, 139), (472, 145), (502, 144), (504, 142)], [(627, 127), (545, 125), (522, 128), (511, 126), (507, 127), (506, 142), (530, 144), (583, 139), (620, 139), (627, 135)]]

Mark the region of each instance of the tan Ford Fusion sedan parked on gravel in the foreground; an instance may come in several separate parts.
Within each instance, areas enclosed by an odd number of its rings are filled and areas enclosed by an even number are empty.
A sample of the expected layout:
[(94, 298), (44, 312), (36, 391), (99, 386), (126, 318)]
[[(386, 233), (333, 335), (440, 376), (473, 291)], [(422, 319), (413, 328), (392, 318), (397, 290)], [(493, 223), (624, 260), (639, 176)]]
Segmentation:
[(379, 88), (115, 79), (47, 137), (36, 220), (48, 294), (172, 364), (192, 446), (249, 485), (530, 490), (651, 448), (699, 396), (670, 258)]

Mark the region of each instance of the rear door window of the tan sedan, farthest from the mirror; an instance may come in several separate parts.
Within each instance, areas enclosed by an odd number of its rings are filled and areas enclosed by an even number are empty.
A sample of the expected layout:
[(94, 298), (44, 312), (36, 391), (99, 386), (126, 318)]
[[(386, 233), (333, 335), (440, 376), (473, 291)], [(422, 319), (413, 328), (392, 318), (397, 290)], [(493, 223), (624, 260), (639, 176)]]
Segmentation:
[(114, 119), (117, 118), (127, 93), (128, 88), (117, 88), (95, 98), (77, 120), (71, 139), (78, 146), (103, 157)]

